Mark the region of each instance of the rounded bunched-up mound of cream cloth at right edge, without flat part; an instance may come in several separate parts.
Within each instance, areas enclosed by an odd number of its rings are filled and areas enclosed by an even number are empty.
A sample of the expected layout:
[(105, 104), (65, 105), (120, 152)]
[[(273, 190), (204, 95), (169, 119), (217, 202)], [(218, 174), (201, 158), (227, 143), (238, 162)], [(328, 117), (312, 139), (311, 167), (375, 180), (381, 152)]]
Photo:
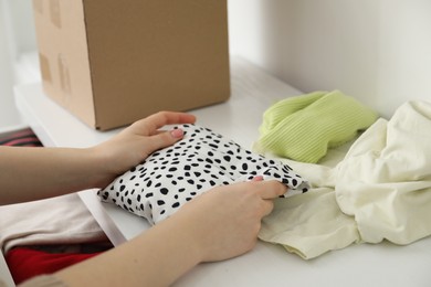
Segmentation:
[(380, 119), (337, 167), (336, 198), (365, 242), (409, 244), (431, 234), (431, 104)]

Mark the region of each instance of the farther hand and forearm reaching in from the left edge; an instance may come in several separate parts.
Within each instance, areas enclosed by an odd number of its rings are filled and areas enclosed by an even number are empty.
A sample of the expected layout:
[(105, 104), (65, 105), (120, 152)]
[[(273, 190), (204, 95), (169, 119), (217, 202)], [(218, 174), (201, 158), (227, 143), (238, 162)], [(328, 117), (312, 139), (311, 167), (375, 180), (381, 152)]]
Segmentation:
[(159, 128), (195, 120), (192, 115), (161, 111), (134, 123), (98, 146), (84, 149), (0, 147), (0, 204), (105, 188), (153, 151), (182, 138), (181, 130)]

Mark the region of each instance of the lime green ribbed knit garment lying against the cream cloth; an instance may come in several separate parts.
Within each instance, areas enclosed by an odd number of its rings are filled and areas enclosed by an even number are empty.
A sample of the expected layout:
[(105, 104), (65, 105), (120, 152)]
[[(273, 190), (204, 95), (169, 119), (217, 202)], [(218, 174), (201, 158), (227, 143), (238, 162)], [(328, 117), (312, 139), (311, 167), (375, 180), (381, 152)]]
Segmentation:
[(254, 150), (316, 163), (328, 148), (354, 139), (377, 118), (371, 108), (339, 91), (290, 97), (265, 110)]

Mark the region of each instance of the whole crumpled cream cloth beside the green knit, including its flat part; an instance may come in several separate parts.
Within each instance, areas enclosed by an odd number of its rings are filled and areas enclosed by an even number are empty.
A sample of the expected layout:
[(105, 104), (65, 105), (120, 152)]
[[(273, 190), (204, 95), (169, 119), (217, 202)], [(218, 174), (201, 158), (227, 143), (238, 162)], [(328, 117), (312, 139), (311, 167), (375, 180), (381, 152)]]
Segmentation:
[(353, 243), (409, 244), (431, 234), (431, 104), (403, 104), (318, 164), (283, 160), (312, 189), (277, 199), (261, 240), (309, 259)]

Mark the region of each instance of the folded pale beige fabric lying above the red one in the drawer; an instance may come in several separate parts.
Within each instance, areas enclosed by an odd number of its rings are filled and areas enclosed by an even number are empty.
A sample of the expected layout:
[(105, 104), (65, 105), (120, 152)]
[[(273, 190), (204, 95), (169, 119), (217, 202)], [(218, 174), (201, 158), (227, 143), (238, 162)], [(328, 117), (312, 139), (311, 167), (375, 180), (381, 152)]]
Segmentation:
[(106, 235), (77, 194), (0, 206), (0, 246), (74, 244)]

